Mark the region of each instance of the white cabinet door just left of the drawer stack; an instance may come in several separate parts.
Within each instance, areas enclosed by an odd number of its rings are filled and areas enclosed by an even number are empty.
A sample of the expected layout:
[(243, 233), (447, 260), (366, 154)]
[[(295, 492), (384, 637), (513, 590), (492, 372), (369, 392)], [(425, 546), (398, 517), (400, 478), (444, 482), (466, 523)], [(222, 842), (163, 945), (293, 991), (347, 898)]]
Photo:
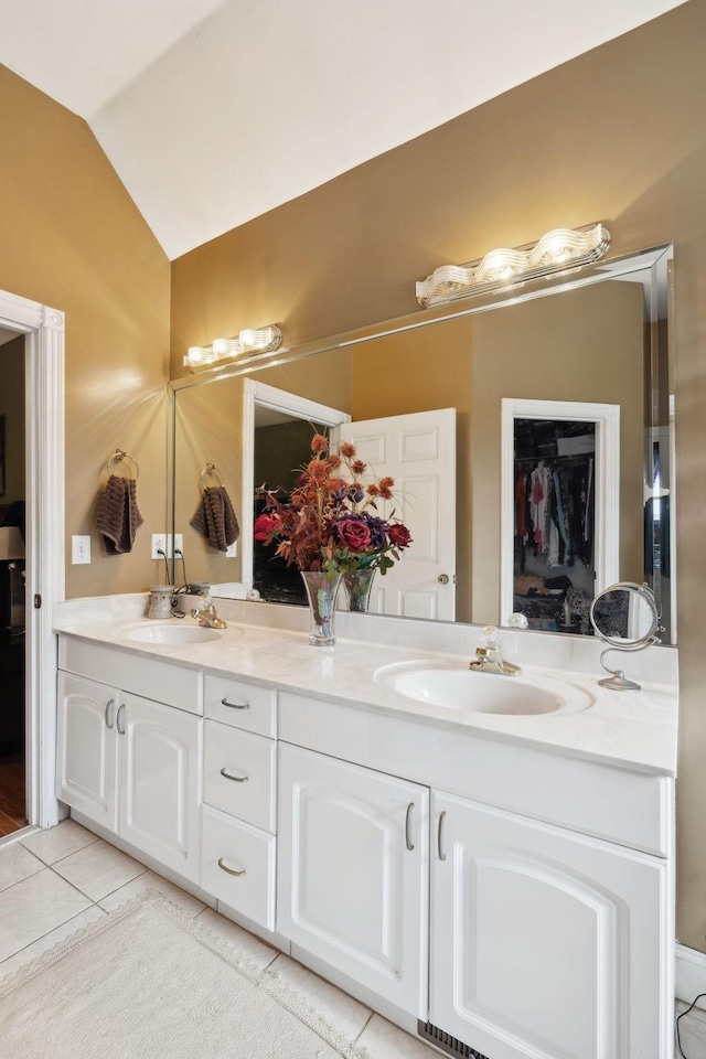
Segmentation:
[(201, 720), (138, 695), (121, 695), (116, 718), (119, 834), (199, 881)]

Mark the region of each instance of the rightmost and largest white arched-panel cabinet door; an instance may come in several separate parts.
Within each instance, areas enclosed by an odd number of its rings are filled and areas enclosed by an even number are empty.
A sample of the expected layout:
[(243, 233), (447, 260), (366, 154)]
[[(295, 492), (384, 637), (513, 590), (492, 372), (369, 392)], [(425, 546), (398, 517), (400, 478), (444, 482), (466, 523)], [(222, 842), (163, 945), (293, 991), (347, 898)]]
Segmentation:
[(432, 805), (429, 1020), (493, 1059), (666, 1059), (666, 863), (450, 795)]

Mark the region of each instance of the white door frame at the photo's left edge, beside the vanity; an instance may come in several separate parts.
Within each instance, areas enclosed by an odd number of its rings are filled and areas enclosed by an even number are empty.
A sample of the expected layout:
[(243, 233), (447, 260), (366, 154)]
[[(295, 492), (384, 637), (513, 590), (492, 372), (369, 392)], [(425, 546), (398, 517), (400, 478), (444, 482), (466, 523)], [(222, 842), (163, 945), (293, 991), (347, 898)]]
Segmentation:
[(55, 794), (56, 637), (64, 599), (64, 314), (0, 291), (0, 327), (25, 335), (25, 712), (31, 825), (58, 820)]

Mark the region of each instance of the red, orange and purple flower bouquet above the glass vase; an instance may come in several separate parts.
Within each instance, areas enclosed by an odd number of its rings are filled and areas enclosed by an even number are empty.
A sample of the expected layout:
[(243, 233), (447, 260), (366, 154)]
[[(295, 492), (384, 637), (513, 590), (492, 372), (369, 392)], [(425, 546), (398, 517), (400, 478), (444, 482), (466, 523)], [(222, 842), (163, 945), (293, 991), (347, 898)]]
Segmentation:
[(289, 501), (268, 494), (267, 510), (255, 520), (256, 541), (278, 542), (276, 555), (303, 571), (336, 574), (377, 569), (386, 574), (409, 547), (411, 536), (395, 518), (377, 514), (377, 501), (393, 500), (394, 479), (364, 482), (367, 464), (345, 441), (338, 452), (320, 434), (311, 440), (311, 460), (302, 468)]

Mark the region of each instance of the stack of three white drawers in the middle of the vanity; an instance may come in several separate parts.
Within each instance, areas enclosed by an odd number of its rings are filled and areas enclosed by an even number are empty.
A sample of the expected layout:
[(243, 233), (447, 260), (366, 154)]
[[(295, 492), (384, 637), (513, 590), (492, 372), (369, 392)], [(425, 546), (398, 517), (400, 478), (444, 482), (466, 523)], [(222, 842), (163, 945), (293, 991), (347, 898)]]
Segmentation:
[(202, 887), (275, 929), (277, 695), (206, 674)]

